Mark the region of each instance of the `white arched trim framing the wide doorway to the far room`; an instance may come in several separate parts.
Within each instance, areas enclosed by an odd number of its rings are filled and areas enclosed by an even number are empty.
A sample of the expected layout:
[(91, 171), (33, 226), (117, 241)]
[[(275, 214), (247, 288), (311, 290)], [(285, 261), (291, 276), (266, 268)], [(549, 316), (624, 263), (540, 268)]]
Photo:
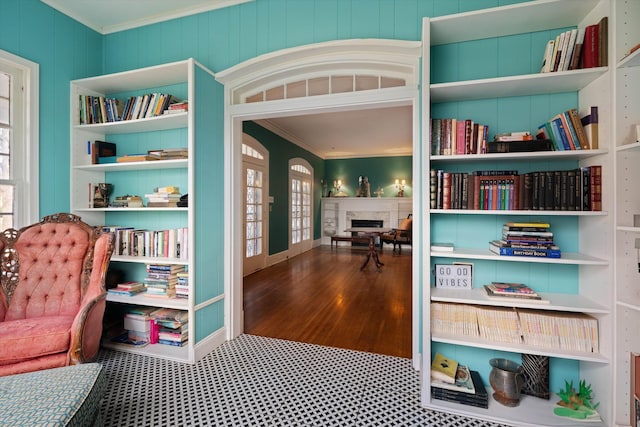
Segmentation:
[[(349, 49), (349, 42), (352, 43)], [(400, 48), (402, 47), (402, 49)], [(376, 48), (380, 48), (376, 50)], [(355, 50), (354, 50), (355, 49)], [(318, 52), (325, 55), (318, 60)], [(348, 54), (350, 52), (350, 54)], [(400, 54), (398, 54), (400, 52)], [(287, 56), (287, 53), (291, 55)], [(242, 182), (242, 122), (245, 120), (258, 120), (273, 117), (297, 116), (316, 114), (320, 112), (340, 112), (348, 110), (362, 110), (367, 108), (382, 108), (400, 105), (412, 107), (413, 120), (413, 179), (414, 194), (413, 212), (421, 212), (422, 171), (420, 169), (421, 143), (420, 143), (420, 90), (418, 86), (420, 58), (420, 42), (403, 42), (389, 40), (353, 40), (328, 42), (318, 45), (302, 46), (295, 49), (263, 55), (246, 61), (225, 70), (216, 75), (216, 78), (225, 85), (225, 223), (227, 224), (224, 239), (225, 253), (225, 326), (227, 339), (237, 337), (243, 332), (243, 280), (242, 280), (242, 200), (238, 192), (238, 183)], [(260, 81), (262, 86), (268, 86), (264, 82), (265, 75), (278, 76), (287, 66), (298, 61), (305, 62), (305, 57), (310, 58), (309, 67), (305, 72), (310, 72), (313, 67), (326, 69), (327, 63), (334, 66), (340, 60), (353, 62), (353, 58), (359, 61), (360, 69), (369, 65), (373, 69), (383, 70), (393, 68), (393, 65), (409, 70), (411, 79), (407, 79), (407, 85), (387, 89), (369, 90), (362, 92), (341, 93), (335, 95), (310, 96), (305, 98), (282, 99), (277, 101), (257, 102), (242, 104), (237, 89), (248, 87), (252, 81)], [(260, 74), (260, 62), (264, 60), (263, 75)], [(278, 58), (279, 61), (274, 61)], [(331, 62), (334, 61), (334, 62)], [(394, 62), (395, 61), (395, 62)], [(267, 66), (268, 65), (268, 66)], [(244, 68), (243, 68), (244, 66)], [(293, 66), (292, 66), (293, 67)], [(295, 67), (293, 67), (295, 68)], [(291, 71), (291, 76), (295, 74)], [(250, 86), (250, 85), (249, 85)], [(253, 89), (253, 88), (252, 88)], [(416, 235), (420, 235), (420, 215), (415, 216), (414, 228)], [(412, 343), (413, 365), (420, 368), (420, 266), (418, 260), (422, 257), (422, 245), (416, 244), (412, 248)], [(428, 284), (427, 284), (428, 285)]]

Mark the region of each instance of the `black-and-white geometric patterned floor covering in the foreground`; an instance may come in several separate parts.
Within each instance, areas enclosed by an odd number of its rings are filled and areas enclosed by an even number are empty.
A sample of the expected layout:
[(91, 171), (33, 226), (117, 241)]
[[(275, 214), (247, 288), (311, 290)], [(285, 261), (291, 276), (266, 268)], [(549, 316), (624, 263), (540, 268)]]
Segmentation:
[(409, 359), (241, 335), (194, 365), (102, 349), (106, 427), (497, 427), (420, 407)]

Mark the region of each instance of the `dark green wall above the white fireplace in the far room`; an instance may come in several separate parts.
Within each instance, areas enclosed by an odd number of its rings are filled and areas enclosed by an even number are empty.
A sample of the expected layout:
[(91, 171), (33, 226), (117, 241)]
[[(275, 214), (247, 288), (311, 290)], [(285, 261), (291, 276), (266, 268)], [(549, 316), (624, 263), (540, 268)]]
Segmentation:
[(411, 156), (368, 157), (360, 159), (327, 160), (325, 162), (325, 179), (328, 190), (332, 190), (334, 180), (342, 181), (341, 190), (349, 197), (355, 197), (358, 191), (360, 176), (366, 176), (371, 186), (371, 197), (382, 188), (382, 197), (396, 197), (395, 180), (406, 180), (405, 197), (413, 196), (413, 173)]

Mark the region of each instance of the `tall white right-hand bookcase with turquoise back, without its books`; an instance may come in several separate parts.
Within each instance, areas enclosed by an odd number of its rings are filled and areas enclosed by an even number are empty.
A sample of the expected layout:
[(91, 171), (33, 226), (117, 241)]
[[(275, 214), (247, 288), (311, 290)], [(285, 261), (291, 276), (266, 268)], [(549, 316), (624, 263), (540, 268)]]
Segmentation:
[[(531, 66), (512, 67), (507, 63), (507, 58), (511, 60), (515, 55), (514, 46), (517, 44), (515, 40), (520, 38), (500, 39), (500, 37), (524, 34), (530, 35), (532, 43), (538, 43), (540, 40), (546, 42), (549, 38), (560, 34), (562, 29), (585, 28), (599, 23), (602, 17), (610, 15), (614, 2), (615, 0), (540, 0), (423, 20), (424, 56), (429, 57), (431, 61), (429, 67), (423, 68), (422, 86), (429, 88), (423, 93), (423, 109), (429, 117), (443, 119), (458, 116), (460, 120), (477, 119), (489, 125), (490, 134), (495, 134), (514, 130), (535, 132), (540, 123), (569, 108), (578, 110), (580, 117), (588, 114), (591, 106), (597, 106), (600, 113), (598, 116), (599, 149), (555, 152), (431, 155), (429, 152), (431, 129), (427, 121), (426, 124), (423, 123), (422, 128), (423, 146), (426, 148), (421, 153), (421, 161), (428, 165), (423, 169), (423, 173), (430, 174), (431, 170), (440, 169), (450, 171), (453, 177), (453, 173), (465, 174), (482, 168), (529, 173), (599, 165), (603, 171), (603, 207), (609, 209), (609, 212), (604, 210), (485, 211), (431, 209), (427, 206), (423, 233), (420, 236), (424, 239), (424, 244), (446, 241), (453, 243), (455, 250), (431, 251), (427, 246), (420, 259), (422, 265), (427, 266), (425, 267), (427, 271), (422, 275), (423, 281), (434, 283), (432, 277), (434, 264), (443, 261), (448, 263), (460, 261), (473, 262), (474, 282), (476, 282), (475, 288), (470, 291), (439, 289), (434, 288), (433, 285), (425, 287), (425, 294), (427, 294), (425, 300), (428, 303), (449, 302), (589, 314), (598, 320), (600, 352), (567, 352), (532, 345), (487, 342), (480, 338), (434, 333), (430, 325), (425, 324), (422, 364), (429, 366), (431, 357), (436, 351), (444, 352), (443, 354), (450, 352), (447, 354), (449, 357), (468, 364), (470, 369), (474, 369), (474, 365), (477, 366), (477, 370), (481, 371), (483, 376), (482, 371), (488, 366), (488, 359), (503, 357), (500, 352), (504, 352), (504, 357), (507, 358), (519, 359), (519, 353), (526, 353), (562, 359), (562, 362), (552, 360), (551, 363), (571, 364), (571, 373), (551, 372), (550, 383), (561, 384), (563, 375), (586, 379), (594, 389), (598, 390), (598, 399), (602, 402), (599, 413), (603, 422), (593, 424), (607, 426), (613, 424), (615, 410), (611, 376), (615, 367), (615, 359), (612, 357), (614, 341), (612, 334), (616, 323), (616, 308), (612, 299), (613, 291), (607, 284), (613, 281), (615, 261), (612, 256), (613, 237), (611, 235), (614, 233), (611, 231), (614, 229), (615, 217), (619, 215), (618, 210), (609, 200), (613, 191), (612, 158), (616, 150), (608, 134), (611, 128), (612, 109), (611, 81), (613, 78), (611, 76), (617, 67), (601, 66), (537, 73), (533, 60), (526, 54), (523, 54), (522, 60), (525, 63), (531, 61), (529, 63)], [(609, 19), (608, 22), (609, 37), (611, 37), (609, 40), (612, 40), (614, 36), (611, 34), (615, 31), (612, 29), (612, 22), (615, 20)], [(636, 31), (637, 35), (638, 33), (640, 31)], [(521, 38), (521, 40), (525, 39), (526, 37)], [(510, 45), (512, 41), (513, 46), (504, 49), (509, 53), (502, 56), (502, 43)], [(526, 42), (522, 41), (519, 46), (522, 48), (525, 45)], [(433, 46), (438, 47), (434, 49)], [(474, 49), (481, 47), (492, 49), (491, 46), (496, 46), (494, 49), (497, 53), (491, 57), (491, 60), (496, 61), (497, 64), (493, 68), (486, 67), (482, 71), (474, 72), (476, 67), (473, 61), (477, 60)], [(608, 46), (611, 46), (611, 43)], [(532, 55), (535, 55), (534, 49), (530, 50)], [(540, 57), (542, 50), (541, 48)], [(611, 57), (611, 55), (608, 56), (608, 58)], [(608, 64), (612, 62), (608, 60)], [(481, 68), (479, 64), (478, 68)], [(518, 125), (513, 125), (514, 123)], [(516, 129), (508, 129), (510, 126), (515, 126)], [(488, 137), (489, 140), (492, 138), (493, 135)], [(640, 150), (638, 152), (640, 153)], [(426, 180), (432, 184), (429, 178), (431, 175), (423, 177), (423, 181)], [(430, 186), (424, 187), (426, 188), (422, 190), (422, 199), (432, 200)], [(462, 197), (465, 200), (464, 181), (460, 187), (462, 192), (458, 187), (456, 194), (463, 194)], [(640, 212), (640, 203), (638, 207)], [(518, 218), (522, 218), (523, 222), (541, 220), (551, 223), (558, 240), (571, 239), (570, 241), (575, 242), (573, 252), (563, 251), (562, 257), (557, 259), (499, 256), (491, 252), (488, 247), (489, 241), (501, 232), (502, 224), (507, 221), (520, 221)], [(540, 293), (544, 299), (549, 300), (549, 303), (500, 301), (486, 297), (484, 289), (478, 284), (478, 281), (486, 280), (523, 282), (534, 289), (536, 282), (539, 282), (545, 284), (544, 289), (553, 289), (554, 292)], [(431, 318), (428, 303), (428, 306), (424, 307), (425, 322)], [(638, 318), (640, 319), (640, 311)], [(530, 396), (524, 397), (517, 409), (506, 408), (491, 401), (489, 410), (434, 399), (430, 393), (429, 370), (425, 371), (422, 378), (422, 393), (423, 404), (426, 407), (507, 425), (578, 424), (575, 420), (554, 416), (552, 408), (555, 402)], [(488, 379), (486, 375), (483, 376), (485, 384), (488, 384)]]

